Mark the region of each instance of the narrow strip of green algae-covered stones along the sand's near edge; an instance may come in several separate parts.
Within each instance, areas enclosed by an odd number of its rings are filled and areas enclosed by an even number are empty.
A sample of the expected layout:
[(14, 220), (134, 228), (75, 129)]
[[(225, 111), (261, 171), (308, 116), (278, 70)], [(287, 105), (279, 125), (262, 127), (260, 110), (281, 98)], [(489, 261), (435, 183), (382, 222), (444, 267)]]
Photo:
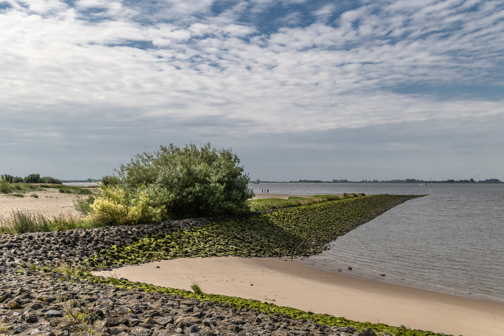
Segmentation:
[[(141, 282), (131, 282), (128, 280), (119, 280), (115, 278), (93, 277), (87, 279), (95, 284), (111, 284), (117, 287), (126, 289), (140, 289), (149, 293), (163, 293), (167, 295), (178, 295), (184, 298), (197, 299), (200, 301), (211, 301), (216, 303), (227, 303), (236, 309), (248, 308), (256, 311), (261, 311), (267, 314), (284, 314), (289, 315), (293, 319), (304, 318), (306, 320), (313, 320), (314, 322), (328, 325), (328, 326), (353, 326), (357, 328), (357, 332), (363, 331), (367, 328), (373, 329), (375, 332), (385, 331), (392, 333), (396, 336), (427, 336), (427, 335), (445, 335), (444, 333), (434, 333), (431, 331), (424, 331), (418, 329), (407, 329), (403, 327), (390, 326), (384, 323), (371, 323), (371, 322), (358, 322), (346, 319), (344, 317), (336, 317), (328, 314), (313, 314), (300, 309), (291, 307), (277, 306), (273, 303), (261, 302), (257, 300), (242, 299), (234, 296), (218, 295), (218, 294), (195, 294), (190, 291), (183, 291), (181, 289), (169, 288), (148, 285)], [(446, 335), (449, 336), (449, 335)]]

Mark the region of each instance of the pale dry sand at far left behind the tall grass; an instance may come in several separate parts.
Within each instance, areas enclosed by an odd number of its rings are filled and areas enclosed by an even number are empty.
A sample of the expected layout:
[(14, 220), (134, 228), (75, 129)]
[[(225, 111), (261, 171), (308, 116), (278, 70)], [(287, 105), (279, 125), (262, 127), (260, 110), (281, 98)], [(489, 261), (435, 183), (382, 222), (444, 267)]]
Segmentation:
[[(15, 190), (13, 190), (13, 193)], [(35, 193), (38, 198), (30, 197)], [(74, 209), (73, 200), (77, 195), (61, 193), (59, 189), (49, 188), (45, 191), (31, 191), (24, 194), (24, 197), (0, 194), (0, 216), (9, 218), (9, 212), (30, 211), (45, 217), (59, 216), (59, 214), (80, 216)]]

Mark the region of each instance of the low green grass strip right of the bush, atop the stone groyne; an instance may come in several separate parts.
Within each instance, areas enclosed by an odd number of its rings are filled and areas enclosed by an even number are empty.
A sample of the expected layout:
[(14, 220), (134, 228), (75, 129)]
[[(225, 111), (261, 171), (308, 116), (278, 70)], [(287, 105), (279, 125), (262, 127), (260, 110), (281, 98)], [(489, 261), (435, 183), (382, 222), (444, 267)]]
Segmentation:
[(343, 194), (343, 195), (314, 195), (312, 197), (291, 196), (289, 198), (258, 198), (250, 201), (250, 211), (262, 211), (270, 209), (283, 209), (291, 207), (309, 206), (317, 203), (324, 203), (330, 200), (339, 200), (365, 196), (364, 193)]

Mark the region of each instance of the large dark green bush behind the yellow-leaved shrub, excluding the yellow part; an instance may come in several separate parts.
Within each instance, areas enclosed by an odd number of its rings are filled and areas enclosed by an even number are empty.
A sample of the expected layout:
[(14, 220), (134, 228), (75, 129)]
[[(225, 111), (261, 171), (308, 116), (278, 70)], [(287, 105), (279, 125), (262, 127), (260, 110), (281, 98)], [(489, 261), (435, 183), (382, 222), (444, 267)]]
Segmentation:
[(170, 144), (154, 153), (135, 155), (127, 165), (114, 169), (106, 181), (134, 195), (138, 188), (153, 186), (166, 199), (164, 206), (175, 216), (214, 216), (249, 210), (248, 188), (240, 160), (231, 150)]

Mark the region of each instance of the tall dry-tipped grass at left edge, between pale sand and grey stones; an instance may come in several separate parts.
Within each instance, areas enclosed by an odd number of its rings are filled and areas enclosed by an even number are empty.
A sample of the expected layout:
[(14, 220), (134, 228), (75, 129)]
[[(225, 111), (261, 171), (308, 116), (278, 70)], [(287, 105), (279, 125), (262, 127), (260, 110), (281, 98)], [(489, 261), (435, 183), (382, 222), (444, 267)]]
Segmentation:
[(54, 216), (52, 219), (29, 211), (10, 212), (10, 217), (0, 217), (0, 233), (50, 232), (56, 230), (92, 229), (105, 224), (86, 221), (72, 215)]

